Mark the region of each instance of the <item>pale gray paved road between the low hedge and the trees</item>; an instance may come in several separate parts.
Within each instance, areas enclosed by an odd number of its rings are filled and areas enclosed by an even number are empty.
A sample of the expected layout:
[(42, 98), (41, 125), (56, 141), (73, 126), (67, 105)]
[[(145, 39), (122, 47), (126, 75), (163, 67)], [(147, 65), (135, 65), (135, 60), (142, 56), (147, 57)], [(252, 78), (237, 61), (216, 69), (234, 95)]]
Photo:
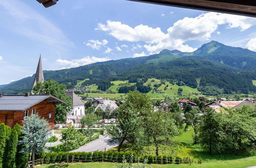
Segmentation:
[(110, 148), (118, 146), (118, 143), (110, 143), (109, 140), (109, 136), (99, 135), (99, 138), (96, 139), (95, 141), (92, 141), (84, 146), (81, 146), (80, 148), (72, 152), (93, 152), (102, 148), (106, 148), (106, 150), (108, 150)]

